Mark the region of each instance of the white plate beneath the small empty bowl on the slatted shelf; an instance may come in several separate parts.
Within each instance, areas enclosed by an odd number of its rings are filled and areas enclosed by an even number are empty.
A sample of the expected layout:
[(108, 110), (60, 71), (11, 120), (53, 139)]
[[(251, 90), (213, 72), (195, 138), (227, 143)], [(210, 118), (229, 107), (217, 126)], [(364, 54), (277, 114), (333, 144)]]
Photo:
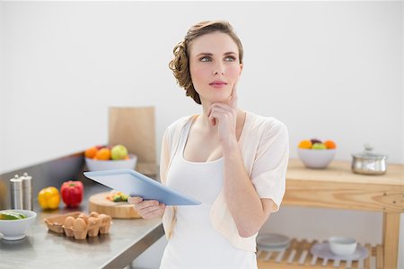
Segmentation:
[(322, 259), (340, 260), (340, 261), (357, 261), (362, 260), (369, 255), (367, 248), (357, 246), (353, 254), (347, 256), (338, 256), (331, 252), (329, 243), (316, 243), (310, 248), (312, 256), (318, 256)]

